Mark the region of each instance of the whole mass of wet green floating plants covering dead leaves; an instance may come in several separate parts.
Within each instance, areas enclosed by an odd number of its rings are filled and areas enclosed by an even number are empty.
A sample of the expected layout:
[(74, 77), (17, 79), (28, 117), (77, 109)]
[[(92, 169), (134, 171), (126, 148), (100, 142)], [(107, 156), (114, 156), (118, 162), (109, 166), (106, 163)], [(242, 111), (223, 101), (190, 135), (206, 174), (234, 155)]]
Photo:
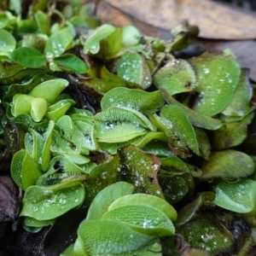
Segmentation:
[(61, 255), (175, 255), (178, 234), (201, 255), (237, 253), (230, 223), (255, 237), (247, 72), (230, 51), (177, 58), (181, 26), (165, 41), (67, 5), (60, 20), (55, 3), (0, 12), (1, 157), (23, 227), (89, 206)]

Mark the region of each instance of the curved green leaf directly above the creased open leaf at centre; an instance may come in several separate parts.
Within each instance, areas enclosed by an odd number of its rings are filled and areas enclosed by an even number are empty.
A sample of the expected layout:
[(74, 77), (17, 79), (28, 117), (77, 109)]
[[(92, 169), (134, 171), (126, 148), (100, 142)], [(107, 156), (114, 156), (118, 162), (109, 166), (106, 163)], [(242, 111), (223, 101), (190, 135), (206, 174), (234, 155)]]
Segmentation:
[(158, 90), (148, 92), (122, 87), (109, 90), (101, 101), (102, 110), (111, 107), (125, 107), (145, 114), (158, 111), (164, 104), (165, 101)]

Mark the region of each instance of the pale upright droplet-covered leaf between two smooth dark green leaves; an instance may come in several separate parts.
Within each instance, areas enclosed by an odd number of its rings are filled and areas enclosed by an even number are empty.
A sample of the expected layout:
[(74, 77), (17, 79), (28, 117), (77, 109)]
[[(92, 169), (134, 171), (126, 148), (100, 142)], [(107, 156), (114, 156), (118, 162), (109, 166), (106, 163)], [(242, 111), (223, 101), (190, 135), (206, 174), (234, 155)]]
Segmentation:
[(52, 59), (71, 48), (73, 45), (73, 32), (69, 27), (61, 29), (59, 32), (52, 34), (44, 48), (44, 55), (47, 59)]

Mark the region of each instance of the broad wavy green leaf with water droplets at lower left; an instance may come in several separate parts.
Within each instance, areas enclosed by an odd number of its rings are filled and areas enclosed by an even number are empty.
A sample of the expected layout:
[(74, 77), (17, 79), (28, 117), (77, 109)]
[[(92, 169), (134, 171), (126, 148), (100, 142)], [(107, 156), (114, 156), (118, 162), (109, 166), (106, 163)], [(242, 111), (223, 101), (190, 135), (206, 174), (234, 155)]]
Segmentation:
[(30, 186), (22, 200), (20, 216), (47, 220), (61, 216), (84, 201), (84, 186), (73, 180), (48, 187)]

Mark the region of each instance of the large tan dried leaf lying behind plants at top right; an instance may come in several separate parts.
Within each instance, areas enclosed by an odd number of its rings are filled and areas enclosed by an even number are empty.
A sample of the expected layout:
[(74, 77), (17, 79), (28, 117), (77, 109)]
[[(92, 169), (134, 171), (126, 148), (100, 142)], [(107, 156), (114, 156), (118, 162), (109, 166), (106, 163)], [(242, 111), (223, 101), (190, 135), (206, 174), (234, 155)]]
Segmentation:
[(138, 20), (164, 30), (189, 20), (190, 24), (200, 26), (201, 38), (256, 38), (255, 15), (209, 0), (105, 1)]

